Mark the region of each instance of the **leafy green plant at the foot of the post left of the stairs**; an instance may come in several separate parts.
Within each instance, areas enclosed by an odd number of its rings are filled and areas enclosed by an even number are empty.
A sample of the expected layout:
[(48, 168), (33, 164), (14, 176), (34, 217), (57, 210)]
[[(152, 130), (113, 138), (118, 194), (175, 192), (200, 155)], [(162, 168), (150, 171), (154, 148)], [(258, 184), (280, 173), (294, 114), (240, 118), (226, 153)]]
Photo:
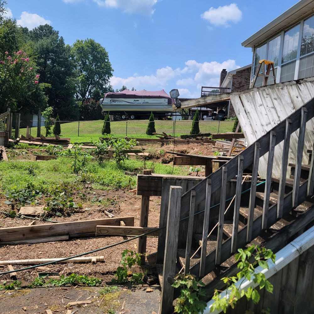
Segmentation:
[(132, 271), (130, 271), (130, 268), (135, 265), (141, 264), (141, 257), (143, 256), (143, 254), (141, 253), (136, 253), (134, 251), (131, 250), (124, 250), (122, 252), (122, 258), (121, 258), (121, 262), (120, 265), (115, 273), (115, 278), (116, 279), (112, 279), (112, 283), (119, 283), (119, 284), (123, 284), (126, 282), (132, 282), (133, 284), (140, 284), (142, 283), (142, 279), (144, 274), (143, 273), (132, 273)]

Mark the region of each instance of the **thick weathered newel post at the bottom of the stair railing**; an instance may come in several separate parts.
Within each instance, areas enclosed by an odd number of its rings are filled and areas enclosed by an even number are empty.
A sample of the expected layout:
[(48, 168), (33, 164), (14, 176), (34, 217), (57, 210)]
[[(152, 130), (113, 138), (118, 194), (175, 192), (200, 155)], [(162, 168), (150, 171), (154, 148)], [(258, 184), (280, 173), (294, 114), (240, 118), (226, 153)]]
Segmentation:
[(172, 312), (174, 288), (171, 285), (173, 284), (173, 278), (176, 274), (176, 255), (179, 237), (181, 192), (182, 187), (170, 187), (164, 270), (162, 277), (159, 314)]

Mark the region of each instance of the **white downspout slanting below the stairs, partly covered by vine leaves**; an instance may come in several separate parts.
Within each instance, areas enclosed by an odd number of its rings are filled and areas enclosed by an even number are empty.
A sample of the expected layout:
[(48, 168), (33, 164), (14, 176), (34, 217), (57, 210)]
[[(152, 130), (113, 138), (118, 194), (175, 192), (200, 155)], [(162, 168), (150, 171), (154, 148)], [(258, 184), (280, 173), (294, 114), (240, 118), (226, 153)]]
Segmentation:
[[(300, 256), (303, 252), (307, 251), (311, 246), (314, 245), (314, 226), (311, 227), (309, 230), (304, 232), (302, 235), (297, 237), (294, 241), (290, 242), (284, 248), (276, 253), (276, 261), (275, 263), (272, 262), (271, 259), (268, 259), (268, 269), (262, 268), (258, 266), (255, 269), (255, 273), (263, 273), (266, 279), (272, 277), (275, 273), (279, 272), (280, 269), (287, 266), (291, 263), (295, 258)], [(239, 292), (241, 290), (247, 290), (249, 287), (255, 288), (258, 286), (258, 283), (254, 283), (253, 280), (247, 280), (242, 277), (240, 280), (236, 282), (236, 287), (238, 288)], [(224, 290), (219, 294), (220, 298), (224, 298), (227, 293), (227, 298), (229, 298), (230, 293)], [(218, 314), (222, 312), (222, 310), (215, 310), (210, 312), (210, 309), (214, 303), (214, 300), (210, 300), (207, 302), (207, 306), (204, 310), (204, 314)]]

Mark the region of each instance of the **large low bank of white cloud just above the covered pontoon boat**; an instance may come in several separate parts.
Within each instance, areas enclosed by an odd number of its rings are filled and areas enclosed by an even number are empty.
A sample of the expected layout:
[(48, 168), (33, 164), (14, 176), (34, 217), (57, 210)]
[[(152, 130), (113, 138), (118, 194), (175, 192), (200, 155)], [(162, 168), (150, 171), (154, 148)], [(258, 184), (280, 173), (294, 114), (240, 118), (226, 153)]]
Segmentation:
[[(110, 83), (114, 89), (121, 88), (122, 85), (128, 88), (166, 91), (177, 87), (182, 97), (199, 97), (201, 86), (219, 86), (219, 77), (222, 69), (231, 71), (240, 68), (235, 60), (224, 62), (203, 62), (188, 60), (182, 68), (173, 69), (170, 66), (157, 69), (151, 75), (139, 75), (134, 73), (128, 78), (113, 76)], [(188, 87), (188, 89), (187, 89)]]

